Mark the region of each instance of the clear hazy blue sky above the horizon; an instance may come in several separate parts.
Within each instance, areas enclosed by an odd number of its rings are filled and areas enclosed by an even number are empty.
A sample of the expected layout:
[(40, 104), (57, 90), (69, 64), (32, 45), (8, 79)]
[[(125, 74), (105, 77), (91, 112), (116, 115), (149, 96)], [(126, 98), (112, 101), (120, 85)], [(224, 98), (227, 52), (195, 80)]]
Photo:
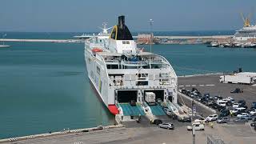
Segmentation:
[(0, 0), (0, 31), (98, 31), (126, 15), (130, 30), (234, 30), (256, 0)]

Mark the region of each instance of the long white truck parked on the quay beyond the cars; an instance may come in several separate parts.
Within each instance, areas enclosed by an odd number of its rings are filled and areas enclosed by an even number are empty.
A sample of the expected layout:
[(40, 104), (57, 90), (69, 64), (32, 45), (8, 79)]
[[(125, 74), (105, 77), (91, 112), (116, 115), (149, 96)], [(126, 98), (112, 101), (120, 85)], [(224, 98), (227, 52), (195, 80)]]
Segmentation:
[(236, 83), (236, 84), (254, 84), (256, 81), (256, 73), (242, 72), (235, 74), (222, 75), (219, 78), (221, 83)]

